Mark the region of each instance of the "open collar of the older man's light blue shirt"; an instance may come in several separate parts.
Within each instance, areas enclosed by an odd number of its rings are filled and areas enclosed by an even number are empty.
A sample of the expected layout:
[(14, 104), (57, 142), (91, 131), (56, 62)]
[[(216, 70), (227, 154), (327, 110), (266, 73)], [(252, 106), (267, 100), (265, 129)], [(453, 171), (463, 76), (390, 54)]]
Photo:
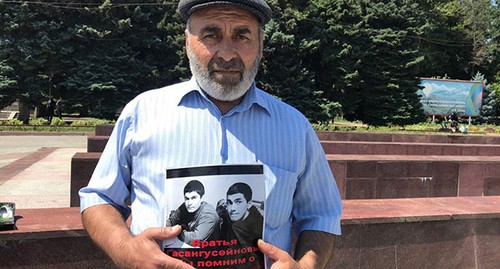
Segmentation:
[[(198, 83), (196, 82), (196, 79), (194, 77), (191, 77), (191, 79), (189, 81), (184, 82), (184, 84), (185, 84), (185, 87), (181, 87), (181, 89), (180, 89), (179, 96), (178, 96), (179, 101), (178, 101), (177, 105), (181, 105), (183, 101), (187, 101), (189, 98), (191, 98), (190, 96), (194, 93), (196, 93), (197, 95), (199, 95), (199, 96), (203, 97), (204, 99), (206, 99), (207, 101), (209, 101), (208, 97), (201, 90), (200, 86), (198, 85)], [(263, 108), (269, 115), (271, 115), (271, 110), (269, 108), (269, 104), (268, 104), (267, 100), (264, 98), (262, 90), (257, 88), (257, 86), (255, 85), (255, 82), (252, 83), (252, 86), (250, 86), (250, 90), (247, 91), (247, 93), (245, 94), (245, 97), (243, 98), (241, 103), (239, 105), (237, 105), (236, 107), (234, 107), (231, 110), (230, 114), (228, 114), (228, 115), (231, 115), (231, 114), (236, 113), (236, 112), (246, 111), (246, 110), (250, 109), (252, 107), (252, 105), (254, 105), (254, 104)]]

